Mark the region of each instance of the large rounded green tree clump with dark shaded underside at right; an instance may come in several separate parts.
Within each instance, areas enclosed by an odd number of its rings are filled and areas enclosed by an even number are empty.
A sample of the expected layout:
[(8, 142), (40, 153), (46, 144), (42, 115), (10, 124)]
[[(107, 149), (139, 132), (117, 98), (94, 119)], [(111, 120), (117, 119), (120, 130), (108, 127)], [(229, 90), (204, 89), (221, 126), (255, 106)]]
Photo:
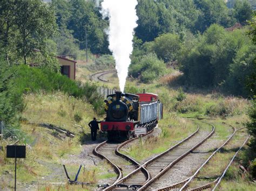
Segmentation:
[(188, 84), (225, 87), (232, 94), (246, 96), (246, 78), (253, 71), (255, 52), (244, 30), (227, 32), (214, 24), (199, 36), (198, 43), (181, 49), (179, 62)]

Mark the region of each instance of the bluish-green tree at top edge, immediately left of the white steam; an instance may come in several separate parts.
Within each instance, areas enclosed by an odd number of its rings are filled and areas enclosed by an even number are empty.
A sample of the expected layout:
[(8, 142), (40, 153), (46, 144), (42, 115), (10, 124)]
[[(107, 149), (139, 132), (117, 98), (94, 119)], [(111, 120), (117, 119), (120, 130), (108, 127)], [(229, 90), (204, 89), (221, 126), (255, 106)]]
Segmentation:
[(73, 31), (73, 36), (80, 41), (80, 49), (87, 45), (92, 53), (109, 53), (107, 35), (104, 29), (106, 20), (102, 19), (99, 8), (91, 1), (71, 0), (71, 15), (68, 29)]

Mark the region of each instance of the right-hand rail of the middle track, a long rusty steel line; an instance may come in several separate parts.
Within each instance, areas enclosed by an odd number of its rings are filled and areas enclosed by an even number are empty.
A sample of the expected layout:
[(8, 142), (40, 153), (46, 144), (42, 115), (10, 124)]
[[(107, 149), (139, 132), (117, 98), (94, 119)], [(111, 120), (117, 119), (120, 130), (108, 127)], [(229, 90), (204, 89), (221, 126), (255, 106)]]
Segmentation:
[(203, 139), (201, 140), (197, 145), (193, 146), (192, 148), (190, 148), (190, 150), (186, 151), (184, 154), (180, 155), (180, 157), (178, 157), (177, 159), (173, 160), (168, 166), (166, 166), (163, 171), (159, 172), (156, 176), (154, 176), (150, 181), (146, 182), (142, 187), (140, 187), (138, 190), (146, 190), (150, 185), (152, 185), (152, 183), (154, 183), (155, 181), (157, 181), (162, 175), (164, 175), (171, 167), (173, 167), (175, 164), (177, 164), (177, 162), (179, 162), (181, 159), (183, 159), (184, 157), (186, 157), (186, 155), (188, 155), (191, 151), (195, 150), (198, 146), (200, 146), (201, 144), (203, 144), (205, 142), (205, 140), (207, 140), (208, 138), (210, 138), (214, 131), (215, 131), (215, 126), (210, 124), (212, 126), (212, 131)]

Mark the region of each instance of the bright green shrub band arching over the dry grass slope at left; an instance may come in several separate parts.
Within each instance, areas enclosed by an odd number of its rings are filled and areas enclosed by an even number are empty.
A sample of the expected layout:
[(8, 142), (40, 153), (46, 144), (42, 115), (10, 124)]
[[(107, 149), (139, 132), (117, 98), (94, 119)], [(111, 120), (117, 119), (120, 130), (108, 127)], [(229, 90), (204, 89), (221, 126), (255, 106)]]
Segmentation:
[[(99, 115), (104, 112), (102, 98), (96, 91), (96, 83), (89, 81), (86, 83), (75, 82), (48, 69), (31, 68), (25, 65), (9, 67), (3, 64), (1, 71), (0, 96), (3, 102), (1, 102), (0, 114), (1, 121), (6, 124), (6, 127), (9, 125), (18, 127), (17, 114), (26, 108), (26, 104), (23, 102), (23, 94), (38, 93), (39, 91), (45, 93), (62, 91), (69, 96), (81, 98), (91, 103), (93, 109)], [(65, 116), (61, 108), (58, 112), (60, 116)], [(76, 120), (79, 121), (78, 116), (76, 116)], [(16, 135), (16, 133), (13, 134)], [(6, 133), (5, 136), (10, 135)]]

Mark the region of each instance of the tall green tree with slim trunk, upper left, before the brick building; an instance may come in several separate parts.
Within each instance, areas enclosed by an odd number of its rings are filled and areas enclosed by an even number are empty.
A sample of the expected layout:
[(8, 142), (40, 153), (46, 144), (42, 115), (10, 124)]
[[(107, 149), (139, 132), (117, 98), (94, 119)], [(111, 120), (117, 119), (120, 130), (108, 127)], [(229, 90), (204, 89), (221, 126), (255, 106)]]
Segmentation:
[(16, 10), (17, 52), (27, 63), (27, 57), (33, 48), (45, 48), (46, 39), (52, 38), (57, 32), (56, 17), (50, 5), (40, 0), (18, 1)]

